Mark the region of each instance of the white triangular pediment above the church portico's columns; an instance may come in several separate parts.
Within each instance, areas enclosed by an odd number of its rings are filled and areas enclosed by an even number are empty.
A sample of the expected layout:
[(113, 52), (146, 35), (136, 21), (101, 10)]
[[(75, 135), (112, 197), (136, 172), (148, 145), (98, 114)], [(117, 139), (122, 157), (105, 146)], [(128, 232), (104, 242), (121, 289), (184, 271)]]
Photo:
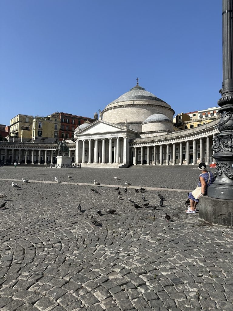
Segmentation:
[(97, 133), (110, 133), (110, 132), (122, 132), (126, 131), (126, 128), (122, 128), (112, 123), (108, 123), (102, 120), (95, 121), (90, 124), (87, 128), (77, 132), (77, 136), (81, 135), (89, 135), (89, 134), (97, 134)]

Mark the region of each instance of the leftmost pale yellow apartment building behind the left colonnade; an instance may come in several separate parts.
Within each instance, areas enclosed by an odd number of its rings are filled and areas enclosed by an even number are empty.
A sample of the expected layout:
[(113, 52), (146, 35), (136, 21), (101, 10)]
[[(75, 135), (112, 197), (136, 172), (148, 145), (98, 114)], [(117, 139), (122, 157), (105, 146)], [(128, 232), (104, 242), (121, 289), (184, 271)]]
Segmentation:
[(32, 138), (33, 116), (18, 114), (10, 120), (10, 137), (14, 141), (27, 142)]

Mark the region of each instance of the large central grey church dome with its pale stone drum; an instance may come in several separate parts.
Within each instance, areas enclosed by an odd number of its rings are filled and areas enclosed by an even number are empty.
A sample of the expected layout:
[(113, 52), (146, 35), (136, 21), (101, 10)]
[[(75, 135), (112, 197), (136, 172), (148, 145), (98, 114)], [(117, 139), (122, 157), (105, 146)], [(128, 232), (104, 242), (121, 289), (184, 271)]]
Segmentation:
[(102, 118), (122, 127), (127, 120), (129, 129), (141, 132), (142, 123), (158, 110), (172, 122), (175, 112), (171, 106), (137, 83), (130, 91), (108, 104), (102, 111)]

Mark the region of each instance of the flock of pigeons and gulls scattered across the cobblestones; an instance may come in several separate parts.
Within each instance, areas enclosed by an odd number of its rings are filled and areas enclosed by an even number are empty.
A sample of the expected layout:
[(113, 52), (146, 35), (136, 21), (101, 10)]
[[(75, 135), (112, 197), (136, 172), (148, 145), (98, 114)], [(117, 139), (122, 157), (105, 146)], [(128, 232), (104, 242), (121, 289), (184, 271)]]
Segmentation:
[[(73, 177), (71, 177), (71, 176), (69, 176), (69, 175), (67, 176), (67, 178), (68, 178), (68, 179), (73, 179)], [(118, 180), (121, 180), (120, 178), (118, 178), (118, 177), (116, 177), (116, 176), (114, 176), (114, 179), (117, 180), (117, 181), (118, 181)], [(23, 183), (30, 183), (30, 181), (27, 180), (27, 179), (25, 179), (25, 178), (22, 178), (22, 181), (23, 181)], [(54, 178), (54, 181), (57, 182), (57, 183), (61, 183), (60, 181), (58, 181), (58, 178), (57, 178), (57, 177)], [(94, 185), (96, 185), (96, 186), (101, 186), (101, 184), (100, 184), (99, 182), (97, 182), (96, 180), (94, 180)], [(16, 183), (14, 183), (14, 182), (11, 183), (11, 186), (12, 186), (14, 189), (16, 189), (16, 188), (21, 188), (20, 186), (18, 186), (18, 185), (17, 185)], [(126, 188), (124, 189), (124, 193), (127, 193), (127, 191), (128, 191), (127, 186), (133, 186), (133, 184), (128, 183), (128, 182), (126, 181), (126, 182), (125, 182), (125, 186), (126, 186)], [(100, 194), (100, 193), (98, 192), (97, 189), (92, 189), (92, 188), (91, 188), (90, 190), (91, 190), (93, 193)], [(147, 191), (145, 188), (142, 188), (142, 187), (140, 187), (140, 188), (134, 188), (134, 190), (135, 190), (136, 193), (142, 193), (142, 197), (141, 197), (141, 198), (142, 198), (142, 201), (143, 201), (143, 202), (146, 202), (146, 201), (147, 201), (146, 198), (145, 198), (145, 195), (144, 195), (144, 193)], [(117, 191), (118, 199), (120, 200), (120, 199), (122, 198), (122, 197), (121, 197), (121, 190), (120, 190), (120, 187), (115, 188), (115, 191)], [(2, 198), (6, 198), (6, 197), (7, 197), (6, 194), (0, 193), (0, 198), (1, 198), (1, 200), (2, 200)], [(166, 201), (166, 199), (165, 199), (161, 194), (159, 194), (159, 193), (158, 193), (158, 197), (159, 197), (159, 199), (160, 199), (159, 205), (149, 205), (149, 203), (146, 202), (146, 203), (143, 204), (143, 207), (140, 206), (139, 204), (135, 203), (134, 201), (132, 201), (130, 197), (129, 197), (127, 200), (128, 200), (128, 202), (133, 203), (135, 209), (137, 209), (137, 210), (143, 209), (143, 208), (152, 208), (153, 210), (156, 210), (156, 209), (158, 209), (158, 207), (163, 207), (163, 202)], [(188, 204), (188, 203), (189, 203), (188, 201), (189, 201), (189, 199), (185, 202), (185, 204)], [(6, 203), (7, 203), (6, 201), (3, 202), (3, 203), (0, 205), (0, 208), (4, 209)], [(77, 209), (78, 209), (80, 212), (82, 211), (82, 207), (81, 207), (80, 204), (78, 205)], [(116, 212), (117, 212), (117, 211), (114, 210), (113, 208), (111, 208), (111, 209), (108, 210), (108, 213), (109, 213), (109, 214), (114, 214), (114, 213), (116, 213)], [(102, 215), (103, 215), (103, 213), (102, 213), (101, 210), (98, 210), (98, 211), (97, 211), (97, 214), (98, 214), (99, 216), (102, 216)], [(170, 217), (167, 213), (165, 213), (165, 219), (166, 219), (166, 221), (169, 221), (169, 220), (171, 220), (171, 217)], [(91, 221), (91, 224), (92, 224), (92, 225), (98, 225), (98, 226), (101, 225), (101, 223), (100, 223), (98, 220), (94, 219), (93, 215), (90, 216), (90, 221)]]

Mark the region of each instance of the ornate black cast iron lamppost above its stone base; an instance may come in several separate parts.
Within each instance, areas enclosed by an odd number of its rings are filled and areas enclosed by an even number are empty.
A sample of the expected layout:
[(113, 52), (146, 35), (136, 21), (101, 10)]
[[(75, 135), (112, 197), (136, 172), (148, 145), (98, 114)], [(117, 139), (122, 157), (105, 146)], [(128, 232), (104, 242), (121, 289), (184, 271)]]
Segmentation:
[(233, 200), (233, 0), (222, 1), (222, 98), (218, 100), (221, 119), (219, 134), (213, 137), (213, 158), (216, 160), (215, 182), (208, 188), (208, 197)]

